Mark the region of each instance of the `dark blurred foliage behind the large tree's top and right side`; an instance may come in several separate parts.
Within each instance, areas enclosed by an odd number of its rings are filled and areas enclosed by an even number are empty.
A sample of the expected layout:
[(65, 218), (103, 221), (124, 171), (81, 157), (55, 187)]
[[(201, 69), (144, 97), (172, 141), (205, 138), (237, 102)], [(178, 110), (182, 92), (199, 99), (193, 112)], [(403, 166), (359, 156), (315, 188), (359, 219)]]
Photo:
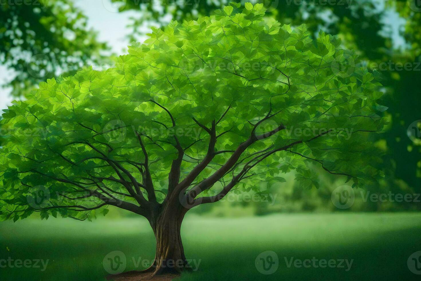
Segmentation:
[[(120, 3), (121, 11), (138, 10), (141, 16), (133, 19), (131, 39), (144, 32), (144, 24), (165, 26), (168, 18), (179, 21), (196, 19), (198, 15), (209, 15), (214, 9), (226, 5), (223, 1), (139, 1), (112, 0)], [(240, 2), (240, 1), (236, 1)], [(421, 185), (420, 138), (413, 142), (408, 138), (411, 124), (419, 120), (416, 115), (419, 103), (421, 37), (421, 9), (416, 1), (410, 0), (257, 0), (266, 8), (266, 16), (292, 27), (306, 24), (312, 37), (317, 37), (322, 29), (342, 39), (344, 48), (354, 50), (359, 55), (362, 67), (377, 69), (384, 78), (384, 100), (388, 112), (385, 116), (392, 120), (388, 134), (373, 138), (381, 140), (380, 147), (386, 153), (379, 169), (385, 171), (386, 181), (382, 187), (400, 192)], [(243, 3), (243, 2), (242, 2)], [(398, 13), (401, 18), (393, 16)], [(171, 15), (168, 17), (168, 15)], [(399, 29), (399, 37), (393, 29)], [(399, 42), (402, 39), (403, 42)], [(397, 42), (395, 42), (397, 41)], [(397, 46), (401, 43), (402, 46)], [(382, 64), (382, 67), (379, 67)], [(397, 65), (408, 65), (409, 70), (398, 70)], [(386, 65), (386, 66), (385, 66)], [(421, 131), (418, 129), (418, 131)], [(379, 188), (379, 187), (377, 187)]]

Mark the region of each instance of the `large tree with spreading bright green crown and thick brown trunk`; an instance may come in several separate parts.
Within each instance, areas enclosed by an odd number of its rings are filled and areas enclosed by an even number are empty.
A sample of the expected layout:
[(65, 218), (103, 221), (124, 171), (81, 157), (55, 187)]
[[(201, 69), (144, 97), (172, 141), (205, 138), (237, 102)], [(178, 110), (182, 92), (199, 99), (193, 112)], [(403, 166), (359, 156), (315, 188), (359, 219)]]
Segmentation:
[(232, 3), (171, 22), (115, 68), (48, 80), (15, 102), (1, 121), (2, 218), (131, 211), (155, 233), (157, 275), (186, 267), (187, 211), (235, 188), (264, 195), (260, 182), (291, 170), (318, 187), (313, 165), (353, 187), (381, 177), (367, 139), (384, 126), (378, 75), (348, 64), (356, 55), (336, 37), (312, 40), (264, 13)]

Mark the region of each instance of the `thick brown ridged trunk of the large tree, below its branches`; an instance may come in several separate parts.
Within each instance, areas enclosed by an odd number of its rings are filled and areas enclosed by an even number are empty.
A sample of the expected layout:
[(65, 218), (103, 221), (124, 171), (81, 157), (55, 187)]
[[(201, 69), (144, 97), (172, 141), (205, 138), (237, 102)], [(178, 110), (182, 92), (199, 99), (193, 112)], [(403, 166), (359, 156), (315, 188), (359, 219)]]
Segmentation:
[(153, 275), (179, 274), (189, 270), (180, 233), (186, 211), (184, 208), (166, 206), (151, 224), (157, 248), (155, 260), (147, 271), (153, 272)]

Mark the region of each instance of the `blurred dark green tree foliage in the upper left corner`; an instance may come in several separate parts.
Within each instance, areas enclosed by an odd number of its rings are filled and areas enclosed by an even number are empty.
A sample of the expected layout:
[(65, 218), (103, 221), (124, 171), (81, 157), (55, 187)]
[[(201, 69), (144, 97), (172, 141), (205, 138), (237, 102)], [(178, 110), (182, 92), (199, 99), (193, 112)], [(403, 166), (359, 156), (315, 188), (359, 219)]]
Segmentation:
[(16, 73), (5, 85), (13, 96), (58, 73), (106, 62), (101, 51), (109, 47), (87, 29), (72, 0), (2, 1), (0, 27), (0, 63)]

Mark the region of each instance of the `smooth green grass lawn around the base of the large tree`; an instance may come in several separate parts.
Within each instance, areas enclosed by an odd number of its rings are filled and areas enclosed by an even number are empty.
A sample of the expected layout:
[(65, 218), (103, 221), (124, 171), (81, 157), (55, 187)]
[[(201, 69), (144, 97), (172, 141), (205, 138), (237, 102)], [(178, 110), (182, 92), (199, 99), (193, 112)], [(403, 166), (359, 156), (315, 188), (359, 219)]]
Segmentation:
[[(250, 218), (187, 217), (182, 236), (198, 270), (177, 280), (419, 280), (408, 257), (421, 250), (421, 214), (278, 214)], [(0, 268), (0, 280), (104, 280), (112, 251), (152, 259), (155, 238), (143, 219), (0, 222), (0, 260), (49, 260), (41, 268)], [(255, 260), (274, 251), (279, 268), (258, 272)], [(285, 258), (353, 260), (345, 268), (288, 268)], [(1, 265), (1, 264), (0, 264)]]

